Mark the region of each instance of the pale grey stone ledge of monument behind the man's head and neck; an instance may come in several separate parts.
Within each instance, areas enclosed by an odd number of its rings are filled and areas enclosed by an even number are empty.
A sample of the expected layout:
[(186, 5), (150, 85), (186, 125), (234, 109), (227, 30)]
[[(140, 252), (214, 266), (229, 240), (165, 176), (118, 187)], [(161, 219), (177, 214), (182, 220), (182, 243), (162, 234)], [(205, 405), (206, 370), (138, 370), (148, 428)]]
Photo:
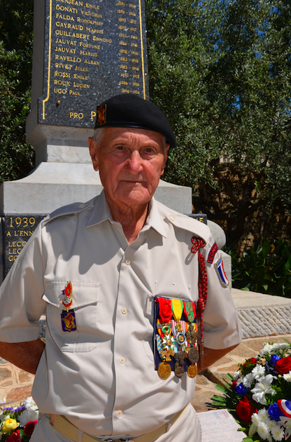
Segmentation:
[[(66, 204), (85, 202), (102, 190), (92, 164), (41, 163), (33, 173), (0, 186), (0, 215), (50, 213)], [(157, 201), (180, 213), (192, 212), (192, 189), (159, 180)]]

